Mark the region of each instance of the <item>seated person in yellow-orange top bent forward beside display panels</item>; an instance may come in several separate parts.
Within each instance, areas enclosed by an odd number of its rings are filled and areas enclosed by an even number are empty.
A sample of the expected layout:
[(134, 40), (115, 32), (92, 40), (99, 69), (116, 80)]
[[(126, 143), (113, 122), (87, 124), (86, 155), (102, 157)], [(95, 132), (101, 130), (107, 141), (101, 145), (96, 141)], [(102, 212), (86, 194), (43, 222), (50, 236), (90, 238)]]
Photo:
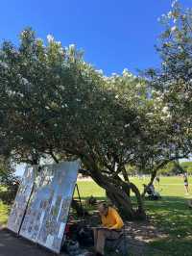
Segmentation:
[(120, 237), (124, 223), (117, 211), (112, 207), (108, 207), (106, 203), (100, 203), (98, 210), (102, 226), (94, 228), (93, 231), (96, 255), (99, 256), (104, 255), (106, 239), (115, 240)]

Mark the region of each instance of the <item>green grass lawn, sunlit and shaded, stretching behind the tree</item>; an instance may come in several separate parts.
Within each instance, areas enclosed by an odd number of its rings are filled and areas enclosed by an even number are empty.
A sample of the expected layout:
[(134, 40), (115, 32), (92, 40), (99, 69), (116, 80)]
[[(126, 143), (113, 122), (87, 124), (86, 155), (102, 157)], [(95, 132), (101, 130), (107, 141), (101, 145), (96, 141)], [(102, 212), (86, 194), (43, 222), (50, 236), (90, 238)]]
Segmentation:
[[(132, 178), (139, 189), (148, 179), (139, 180)], [(192, 184), (192, 178), (189, 178)], [(91, 194), (98, 199), (105, 199), (105, 191), (92, 181), (79, 181), (79, 190), (83, 199)], [(190, 189), (190, 186), (189, 186)], [(183, 181), (181, 177), (160, 178), (160, 186), (156, 190), (162, 195), (159, 201), (145, 201), (147, 214), (156, 228), (167, 234), (166, 239), (156, 239), (150, 243), (154, 248), (162, 251), (158, 255), (192, 255), (192, 210), (188, 209), (186, 200), (192, 198), (185, 195)], [(75, 192), (77, 196), (77, 192)], [(0, 201), (0, 225), (6, 224), (9, 207)], [(157, 256), (157, 254), (156, 254)]]

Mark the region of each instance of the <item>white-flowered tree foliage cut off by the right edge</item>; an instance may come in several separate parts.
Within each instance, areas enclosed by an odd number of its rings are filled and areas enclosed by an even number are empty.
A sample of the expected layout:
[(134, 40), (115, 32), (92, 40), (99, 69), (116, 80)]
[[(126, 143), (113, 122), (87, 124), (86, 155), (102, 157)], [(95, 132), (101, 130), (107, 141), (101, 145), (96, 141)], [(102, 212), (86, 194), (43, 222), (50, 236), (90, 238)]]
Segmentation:
[(150, 69), (151, 86), (164, 105), (175, 138), (176, 157), (192, 149), (192, 9), (173, 1), (172, 10), (160, 18), (164, 31), (156, 50), (159, 69)]

